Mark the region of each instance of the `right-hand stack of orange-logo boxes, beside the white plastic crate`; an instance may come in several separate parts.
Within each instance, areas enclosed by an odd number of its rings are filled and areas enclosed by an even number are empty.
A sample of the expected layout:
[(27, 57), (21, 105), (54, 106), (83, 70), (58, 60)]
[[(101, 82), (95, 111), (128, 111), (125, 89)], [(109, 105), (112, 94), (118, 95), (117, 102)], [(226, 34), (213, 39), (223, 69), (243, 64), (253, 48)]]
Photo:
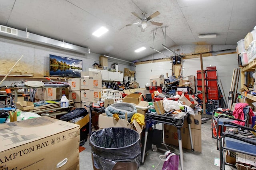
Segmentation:
[[(81, 104), (89, 106), (100, 100), (102, 87), (101, 73), (98, 71), (82, 71), (80, 79)], [(89, 108), (87, 108), (89, 111)]]

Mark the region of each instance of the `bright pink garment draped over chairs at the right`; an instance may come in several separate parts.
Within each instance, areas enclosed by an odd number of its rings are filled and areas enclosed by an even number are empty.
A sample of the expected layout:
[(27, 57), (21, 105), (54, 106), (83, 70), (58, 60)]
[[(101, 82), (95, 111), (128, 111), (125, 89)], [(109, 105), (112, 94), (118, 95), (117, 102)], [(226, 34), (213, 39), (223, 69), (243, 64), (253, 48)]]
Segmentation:
[[(233, 111), (233, 115), (236, 119), (241, 119), (244, 120), (244, 112), (243, 109), (245, 106), (248, 106), (247, 103), (237, 103), (235, 106), (235, 109)], [(252, 124), (252, 116), (254, 116), (254, 113), (252, 112), (252, 109), (249, 109), (249, 124)], [(241, 122), (241, 121), (234, 121), (234, 123), (238, 124), (238, 125), (245, 125), (245, 122)]]

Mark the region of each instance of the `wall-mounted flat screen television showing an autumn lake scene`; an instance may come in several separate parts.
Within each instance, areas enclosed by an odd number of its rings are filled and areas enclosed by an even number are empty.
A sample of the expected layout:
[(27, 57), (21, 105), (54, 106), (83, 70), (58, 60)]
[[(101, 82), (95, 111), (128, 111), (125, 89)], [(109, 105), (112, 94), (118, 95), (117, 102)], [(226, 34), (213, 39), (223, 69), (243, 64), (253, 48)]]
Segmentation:
[(82, 60), (50, 54), (50, 76), (78, 77), (82, 71)]

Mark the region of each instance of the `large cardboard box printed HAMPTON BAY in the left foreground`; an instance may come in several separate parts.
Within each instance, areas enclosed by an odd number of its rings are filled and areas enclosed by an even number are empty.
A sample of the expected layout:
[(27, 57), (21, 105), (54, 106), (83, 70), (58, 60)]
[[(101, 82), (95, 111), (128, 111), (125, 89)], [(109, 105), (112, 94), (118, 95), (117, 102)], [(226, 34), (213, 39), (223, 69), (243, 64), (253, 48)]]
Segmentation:
[(50, 117), (0, 124), (1, 169), (79, 170), (79, 125)]

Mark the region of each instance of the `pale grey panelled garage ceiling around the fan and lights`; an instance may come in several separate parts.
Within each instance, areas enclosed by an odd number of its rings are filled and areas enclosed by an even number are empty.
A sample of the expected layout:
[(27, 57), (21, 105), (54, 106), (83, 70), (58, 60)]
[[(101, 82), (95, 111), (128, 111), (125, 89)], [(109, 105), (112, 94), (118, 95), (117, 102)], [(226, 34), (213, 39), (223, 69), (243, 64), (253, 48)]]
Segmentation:
[[(141, 32), (132, 14), (150, 16)], [(256, 0), (0, 0), (0, 25), (135, 61), (174, 45), (236, 45), (256, 26)], [(97, 38), (92, 33), (105, 26)], [(199, 34), (217, 34), (199, 39)], [(134, 50), (146, 47), (140, 53)]]

